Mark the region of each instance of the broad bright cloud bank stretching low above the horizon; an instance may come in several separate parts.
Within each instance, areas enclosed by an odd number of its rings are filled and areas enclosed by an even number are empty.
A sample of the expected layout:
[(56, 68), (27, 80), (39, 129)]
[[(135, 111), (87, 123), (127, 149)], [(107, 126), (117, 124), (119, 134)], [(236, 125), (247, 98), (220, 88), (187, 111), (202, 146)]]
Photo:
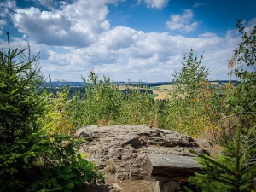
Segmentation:
[(235, 31), (227, 32), (224, 38), (211, 32), (186, 38), (119, 26), (103, 32), (88, 47), (67, 53), (49, 50), (49, 59), (42, 63), (46, 73), (67, 80), (79, 80), (79, 74), (86, 75), (93, 67), (97, 74), (113, 80), (171, 81), (172, 73), (181, 69), (182, 53), (188, 55), (190, 49), (195, 49), (195, 55), (204, 55), (202, 64), (212, 71), (211, 78), (222, 79), (229, 72), (227, 60), (238, 42)]

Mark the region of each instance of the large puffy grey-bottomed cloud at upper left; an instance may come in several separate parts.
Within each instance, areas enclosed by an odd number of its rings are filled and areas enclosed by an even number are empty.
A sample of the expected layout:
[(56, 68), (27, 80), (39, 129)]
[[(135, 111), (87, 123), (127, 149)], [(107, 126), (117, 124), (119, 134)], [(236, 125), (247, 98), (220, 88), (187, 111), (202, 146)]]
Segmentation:
[[(41, 11), (38, 8), (16, 9), (13, 21), (19, 32), (26, 33), (38, 44), (86, 47), (109, 29), (108, 7), (104, 3), (78, 0), (62, 4), (62, 9)], [(41, 3), (49, 3), (41, 0)], [(86, 9), (84, 9), (86, 8)]]

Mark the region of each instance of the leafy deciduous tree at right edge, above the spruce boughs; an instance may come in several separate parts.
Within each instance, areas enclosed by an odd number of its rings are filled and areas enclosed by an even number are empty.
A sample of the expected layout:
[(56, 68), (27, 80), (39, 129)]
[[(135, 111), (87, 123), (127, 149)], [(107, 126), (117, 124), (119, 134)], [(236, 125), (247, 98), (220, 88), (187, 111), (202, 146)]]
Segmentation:
[[(241, 32), (241, 42), (234, 50), (229, 61), (231, 74), (234, 73), (239, 85), (230, 90), (227, 106), (230, 113), (247, 113), (256, 111), (256, 26), (252, 31), (242, 26), (242, 20), (237, 20), (236, 28)], [(244, 126), (255, 125), (255, 117), (247, 119), (242, 116)], [(247, 125), (245, 123), (247, 122)]]

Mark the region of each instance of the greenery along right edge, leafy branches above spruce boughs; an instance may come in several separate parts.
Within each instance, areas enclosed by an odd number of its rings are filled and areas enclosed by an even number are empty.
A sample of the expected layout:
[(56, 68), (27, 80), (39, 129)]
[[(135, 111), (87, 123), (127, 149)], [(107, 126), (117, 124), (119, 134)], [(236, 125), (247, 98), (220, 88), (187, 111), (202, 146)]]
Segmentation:
[[(256, 191), (256, 27), (248, 33), (237, 20), (236, 28), (241, 32), (241, 42), (229, 62), (239, 85), (227, 96), (228, 115), (224, 119), (237, 117), (238, 123), (229, 130), (223, 129), (223, 154), (212, 157), (198, 154), (203, 166), (189, 182), (203, 191)], [(234, 134), (234, 132), (236, 134)]]

